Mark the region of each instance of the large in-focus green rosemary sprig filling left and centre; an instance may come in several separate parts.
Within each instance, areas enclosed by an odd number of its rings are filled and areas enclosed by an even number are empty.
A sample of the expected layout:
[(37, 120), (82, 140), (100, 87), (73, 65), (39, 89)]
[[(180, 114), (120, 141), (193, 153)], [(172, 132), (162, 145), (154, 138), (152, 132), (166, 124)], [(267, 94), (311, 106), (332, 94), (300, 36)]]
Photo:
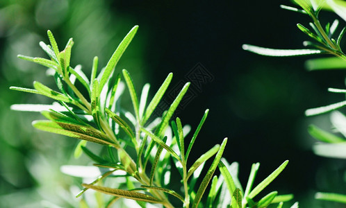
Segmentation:
[[(142, 88), (142, 93), (138, 97), (130, 73), (126, 69), (123, 69), (122, 73), (115, 72), (117, 62), (137, 30), (138, 26), (134, 26), (129, 31), (98, 75), (98, 58), (94, 58), (90, 79), (83, 73), (81, 66), (72, 68), (70, 65), (73, 40), (70, 39), (65, 49), (59, 51), (51, 31), (48, 31), (50, 45), (40, 42), (41, 48), (49, 55), (50, 60), (18, 55), (23, 60), (48, 67), (58, 91), (38, 81), (33, 83), (34, 89), (10, 89), (44, 95), (57, 102), (52, 105), (13, 105), (12, 109), (42, 112), (48, 120), (33, 121), (35, 128), (81, 139), (76, 145), (74, 156), (79, 157), (85, 153), (95, 162), (94, 166), (67, 165), (61, 168), (64, 173), (79, 177), (96, 173), (94, 176), (97, 178), (91, 183), (83, 183), (84, 188), (76, 197), (83, 196), (88, 189), (93, 189), (97, 191), (95, 196), (98, 207), (110, 207), (115, 203), (118, 203), (117, 206), (124, 206), (120, 198), (135, 200), (140, 207), (146, 207), (147, 203), (164, 207), (233, 208), (267, 207), (272, 203), (279, 203), (277, 207), (282, 207), (283, 202), (291, 200), (293, 195), (278, 196), (277, 191), (272, 191), (260, 200), (255, 199), (258, 193), (283, 171), (288, 161), (283, 162), (254, 189), (252, 187), (259, 163), (253, 164), (247, 187), (242, 191), (238, 181), (238, 164), (228, 164), (226, 159), (222, 158), (227, 138), (188, 167), (192, 146), (206, 120), (208, 110), (204, 112), (197, 129), (188, 141), (188, 125), (183, 126), (178, 117), (171, 122), (170, 120), (190, 83), (183, 86), (169, 109), (163, 112), (163, 116), (158, 116), (154, 112), (170, 85), (172, 73), (147, 104), (149, 84)], [(129, 90), (132, 112), (120, 103), (125, 86), (122, 80)], [(99, 153), (87, 147), (88, 142), (101, 145)], [(206, 170), (206, 175), (199, 181), (204, 164), (213, 156), (215, 157)], [(218, 177), (214, 175), (217, 168), (220, 170)], [(173, 177), (172, 174), (176, 171), (180, 174), (181, 180)], [(202, 200), (210, 182), (207, 198)], [(107, 197), (99, 193), (106, 193)], [(83, 198), (80, 205), (88, 207), (88, 199)], [(297, 203), (293, 207), (297, 207)]]

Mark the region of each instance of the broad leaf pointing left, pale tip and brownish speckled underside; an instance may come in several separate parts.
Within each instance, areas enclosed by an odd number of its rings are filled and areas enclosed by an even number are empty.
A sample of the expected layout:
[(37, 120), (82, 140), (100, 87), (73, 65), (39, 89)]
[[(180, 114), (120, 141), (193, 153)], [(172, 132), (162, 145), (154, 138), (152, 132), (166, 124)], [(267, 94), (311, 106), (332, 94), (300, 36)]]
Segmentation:
[(112, 141), (110, 141), (106, 135), (88, 126), (53, 121), (33, 121), (33, 126), (39, 130), (56, 133), (58, 135), (65, 135), (67, 137), (83, 139), (103, 145), (112, 144)]

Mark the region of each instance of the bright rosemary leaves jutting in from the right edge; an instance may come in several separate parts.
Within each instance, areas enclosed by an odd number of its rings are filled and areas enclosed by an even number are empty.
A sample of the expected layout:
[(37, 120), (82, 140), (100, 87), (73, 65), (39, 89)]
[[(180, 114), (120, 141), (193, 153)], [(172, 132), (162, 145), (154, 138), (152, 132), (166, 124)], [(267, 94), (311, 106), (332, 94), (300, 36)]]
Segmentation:
[[(334, 1), (334, 0), (294, 0), (300, 8), (293, 8), (290, 6), (281, 6), (281, 8), (287, 10), (293, 10), (295, 12), (302, 13), (311, 17), (313, 22), (310, 23), (313, 31), (302, 26), (302, 24), (297, 24), (299, 30), (304, 32), (306, 35), (311, 37), (314, 42), (304, 41), (304, 46), (311, 46), (314, 49), (267, 49), (258, 46), (252, 46), (245, 44), (242, 46), (243, 49), (251, 51), (253, 53), (258, 53), (261, 55), (270, 56), (291, 56), (291, 55), (310, 55), (318, 53), (327, 53), (334, 55), (333, 58), (318, 58), (313, 60), (308, 60), (306, 62), (306, 67), (309, 70), (321, 70), (321, 69), (346, 69), (346, 55), (340, 48), (340, 42), (343, 35), (346, 32), (346, 27), (344, 27), (340, 33), (333, 36), (336, 33), (339, 21), (336, 19), (333, 24), (327, 23), (324, 27), (320, 24), (318, 15), (321, 9), (331, 9), (336, 12), (341, 18), (346, 21), (346, 3), (345, 1)], [(329, 88), (329, 92), (346, 94), (346, 89), (336, 89)], [(339, 103), (333, 103), (331, 105), (316, 107), (306, 110), (306, 116), (313, 116), (317, 114), (323, 114), (326, 112), (331, 112), (331, 123), (335, 128), (336, 132), (341, 133), (343, 137), (339, 137), (330, 132), (322, 130), (315, 125), (310, 125), (308, 127), (309, 134), (322, 141), (322, 143), (317, 143), (313, 146), (313, 151), (316, 155), (324, 157), (334, 157), (346, 159), (346, 116), (341, 112), (336, 111), (338, 108), (346, 105), (346, 101), (341, 101)], [(316, 193), (316, 199), (329, 200), (334, 202), (341, 202), (346, 204), (346, 195), (339, 193)]]

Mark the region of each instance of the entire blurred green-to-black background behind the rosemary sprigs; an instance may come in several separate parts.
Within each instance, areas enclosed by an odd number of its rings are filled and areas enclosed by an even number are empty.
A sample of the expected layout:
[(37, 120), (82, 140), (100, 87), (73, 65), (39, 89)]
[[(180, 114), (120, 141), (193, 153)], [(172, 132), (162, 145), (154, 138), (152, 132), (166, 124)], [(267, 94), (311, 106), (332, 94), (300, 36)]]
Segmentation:
[[(256, 44), (282, 49), (302, 48), (306, 36), (295, 26), (303, 15), (282, 10), (288, 1), (0, 1), (0, 207), (76, 207), (80, 181), (60, 173), (63, 164), (89, 164), (73, 157), (75, 139), (38, 132), (31, 121), (40, 114), (10, 111), (15, 103), (51, 103), (49, 99), (10, 86), (32, 87), (33, 80), (53, 85), (45, 70), (17, 54), (44, 56), (38, 42), (48, 42), (47, 29), (65, 46), (74, 38), (72, 65), (90, 74), (92, 58), (105, 66), (122, 37), (138, 24), (135, 39), (117, 65), (126, 68), (137, 89), (151, 83), (158, 89), (167, 73), (172, 86), (200, 63), (213, 81), (183, 106), (178, 116), (195, 128), (204, 110), (211, 110), (195, 148), (197, 158), (224, 137), (224, 157), (240, 162), (245, 184), (252, 163), (261, 162), (258, 182), (284, 160), (290, 163), (267, 191), (295, 193), (302, 207), (329, 207), (313, 200), (315, 191), (346, 193), (345, 162), (313, 155), (309, 123), (329, 128), (328, 116), (304, 117), (304, 110), (343, 96), (327, 87), (345, 87), (345, 72), (304, 69), (303, 58), (267, 58), (242, 51)], [(322, 12), (323, 24), (336, 16)], [(345, 23), (343, 22), (342, 25)], [(73, 194), (72, 194), (73, 193)]]

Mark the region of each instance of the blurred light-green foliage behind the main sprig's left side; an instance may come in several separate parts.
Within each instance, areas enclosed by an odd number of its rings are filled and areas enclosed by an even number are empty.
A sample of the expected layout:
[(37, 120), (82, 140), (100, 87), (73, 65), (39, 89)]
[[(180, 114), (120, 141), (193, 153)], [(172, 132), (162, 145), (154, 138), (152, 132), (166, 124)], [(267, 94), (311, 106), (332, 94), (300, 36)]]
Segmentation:
[[(71, 154), (66, 153), (71, 153), (76, 143), (33, 130), (31, 121), (38, 114), (10, 112), (13, 103), (47, 103), (42, 96), (13, 94), (10, 85), (28, 87), (33, 80), (40, 80), (49, 86), (53, 81), (42, 73), (43, 67), (19, 60), (19, 51), (43, 55), (38, 43), (50, 28), (62, 42), (71, 36), (79, 42), (72, 49), (71, 62), (82, 64), (83, 71), (90, 74), (92, 58), (99, 55), (101, 65), (106, 65), (129, 25), (133, 25), (131, 18), (110, 10), (109, 1), (0, 2), (0, 207), (51, 207), (51, 202), (76, 207), (73, 187), (67, 187), (74, 182), (58, 169), (74, 163)], [(145, 34), (140, 36), (133, 42), (135, 50), (129, 49), (118, 64), (135, 71), (133, 78), (138, 83), (146, 68), (141, 44)]]

